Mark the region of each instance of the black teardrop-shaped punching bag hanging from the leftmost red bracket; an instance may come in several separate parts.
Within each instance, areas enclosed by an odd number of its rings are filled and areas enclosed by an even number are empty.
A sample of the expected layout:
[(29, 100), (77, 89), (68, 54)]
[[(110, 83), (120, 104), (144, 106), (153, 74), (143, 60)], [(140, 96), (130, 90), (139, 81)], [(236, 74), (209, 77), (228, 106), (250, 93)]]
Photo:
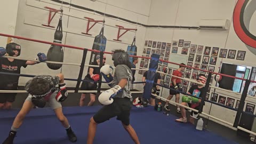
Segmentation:
[[(59, 24), (57, 26), (57, 29), (54, 33), (54, 41), (53, 43), (60, 43), (62, 41), (62, 19), (60, 18)], [(56, 61), (56, 62), (63, 62), (64, 53), (62, 50), (62, 46), (58, 45), (51, 45), (50, 49), (47, 52), (47, 61)], [(60, 69), (62, 64), (56, 64), (56, 63), (47, 63), (47, 66), (50, 69), (57, 70)]]

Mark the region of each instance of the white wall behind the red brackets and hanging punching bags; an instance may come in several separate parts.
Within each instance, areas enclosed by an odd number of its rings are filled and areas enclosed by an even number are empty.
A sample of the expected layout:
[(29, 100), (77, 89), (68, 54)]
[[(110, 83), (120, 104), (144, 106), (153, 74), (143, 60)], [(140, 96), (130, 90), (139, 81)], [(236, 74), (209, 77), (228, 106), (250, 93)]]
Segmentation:
[[(70, 1), (65, 1), (70, 2)], [(95, 11), (100, 11), (107, 14), (112, 14), (117, 17), (129, 19), (131, 21), (139, 23), (147, 23), (148, 15), (151, 5), (151, 0), (140, 1), (143, 7), (140, 7), (135, 0), (133, 1), (72, 1), (72, 4), (84, 6)], [(53, 1), (35, 1), (35, 0), (22, 0), (19, 3), (18, 16), (17, 16), (17, 29), (15, 29), (15, 35), (39, 39), (42, 41), (52, 42), (55, 32), (55, 28), (48, 28), (42, 26), (42, 24), (47, 23), (49, 16), (49, 11), (44, 9), (44, 6), (52, 7), (54, 9), (60, 9), (61, 4), (55, 3)], [(51, 21), (51, 26), (57, 27), (59, 16), (57, 13), (53, 20)], [(106, 51), (110, 52), (114, 49), (127, 49), (128, 45), (131, 45), (133, 37), (135, 35), (134, 31), (128, 31), (121, 38), (122, 42), (114, 41), (117, 38), (118, 28), (115, 25), (121, 25), (125, 28), (137, 28), (136, 33), (136, 45), (138, 47), (138, 53), (141, 53), (141, 47), (143, 46), (143, 41), (145, 37), (146, 28), (133, 25), (124, 21), (120, 21), (113, 18), (103, 17), (94, 12), (89, 12), (76, 7), (69, 7), (69, 5), (63, 4), (63, 17), (62, 17), (62, 27), (63, 27), (63, 38), (62, 44), (73, 45), (79, 47), (85, 47), (87, 49), (92, 49), (94, 37), (100, 33), (102, 23), (97, 23), (89, 33), (92, 36), (87, 36), (81, 34), (86, 31), (87, 19), (84, 17), (93, 18), (95, 20), (105, 19), (105, 30), (104, 35), (107, 38)], [(92, 25), (92, 24), (90, 24)], [(121, 30), (121, 33), (123, 30)], [(31, 41), (23, 41), (14, 39), (15, 42), (21, 44), (22, 52), (20, 57), (34, 59), (38, 52), (47, 53), (50, 45), (36, 43)], [(90, 58), (90, 52), (87, 53), (86, 61)], [(107, 64), (112, 65), (111, 55), (107, 55)], [(82, 50), (69, 49), (65, 47), (64, 49), (64, 62), (67, 63), (81, 63), (82, 61)], [(86, 62), (88, 64), (88, 62)], [(46, 63), (39, 63), (35, 66), (28, 66), (27, 68), (22, 68), (22, 74), (38, 75), (38, 74), (57, 74), (63, 73), (66, 78), (77, 79), (79, 74), (79, 66), (63, 65), (59, 70), (51, 70), (46, 66)], [(40, 70), (38, 70), (40, 69)], [(83, 77), (86, 75), (87, 67), (84, 68)], [(137, 76), (136, 76), (137, 77)], [(21, 77), (19, 85), (24, 85), (28, 78)], [(76, 82), (67, 82), (68, 86), (75, 86)], [(106, 85), (103, 85), (103, 87)]]

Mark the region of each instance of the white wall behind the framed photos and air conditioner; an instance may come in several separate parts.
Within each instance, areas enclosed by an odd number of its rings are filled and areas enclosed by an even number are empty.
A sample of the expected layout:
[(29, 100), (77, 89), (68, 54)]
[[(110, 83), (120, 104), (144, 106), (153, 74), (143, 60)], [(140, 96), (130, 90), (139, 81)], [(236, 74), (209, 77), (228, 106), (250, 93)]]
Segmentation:
[[(190, 44), (203, 45), (210, 47), (219, 47), (220, 49), (246, 51), (244, 60), (228, 59), (228, 58), (217, 58), (216, 65), (214, 66), (215, 72), (219, 72), (220, 62), (236, 63), (237, 65), (245, 65), (255, 67), (255, 55), (250, 52), (245, 44), (237, 37), (233, 28), (233, 11), (236, 4), (236, 0), (153, 0), (150, 17), (148, 20), (148, 25), (167, 25), (167, 26), (191, 26), (198, 27), (199, 21), (201, 19), (229, 19), (230, 27), (228, 30), (195, 30), (195, 29), (168, 29), (168, 28), (147, 28), (145, 41), (156, 41), (156, 42), (166, 42), (172, 43), (172, 41), (179, 41), (179, 39), (184, 39), (184, 41), (190, 41)], [(256, 22), (255, 13), (252, 17), (251, 23)], [(251, 24), (250, 24), (251, 26)], [(256, 31), (250, 28), (250, 32), (255, 34)], [(148, 46), (144, 46), (153, 49)], [(178, 53), (181, 54), (182, 47), (178, 48)], [(212, 51), (211, 51), (212, 52)], [(188, 52), (189, 54), (189, 52)], [(196, 55), (196, 54), (195, 54)], [(203, 54), (202, 54), (203, 55)], [(211, 54), (209, 55), (211, 57)], [(172, 61), (180, 63), (179, 61)], [(193, 61), (193, 66), (195, 63), (195, 58)], [(140, 64), (140, 63), (139, 63)], [(202, 60), (201, 60), (202, 64)], [(191, 71), (192, 73), (192, 71)], [(142, 75), (139, 75), (139, 77)], [(190, 77), (191, 78), (191, 77)], [(191, 79), (194, 81), (193, 79)], [(215, 81), (213, 81), (215, 85)], [(188, 87), (189, 89), (189, 87)], [(211, 93), (213, 89), (211, 89)], [(219, 95), (225, 96), (226, 99), (232, 98), (236, 101), (241, 98), (241, 94), (236, 95), (228, 92), (218, 91)], [(162, 91), (162, 97), (167, 98), (169, 95), (169, 90), (164, 89)], [(182, 94), (181, 94), (182, 95)], [(209, 97), (209, 100), (210, 100)], [(218, 97), (219, 98), (219, 97)], [(175, 98), (172, 100), (174, 101)], [(217, 101), (218, 102), (218, 101)], [(255, 105), (255, 100), (246, 98), (246, 103), (252, 103)], [(245, 104), (246, 106), (246, 104)], [(234, 106), (235, 107), (235, 106)], [(245, 110), (245, 108), (244, 108)], [(205, 104), (204, 112), (209, 113), (210, 103)], [(222, 111), (220, 113), (220, 111)], [(254, 114), (255, 114), (254, 110)], [(211, 107), (211, 115), (223, 119), (229, 123), (234, 123), (236, 111), (229, 110), (220, 106), (213, 105)], [(225, 124), (224, 124), (225, 125)]]

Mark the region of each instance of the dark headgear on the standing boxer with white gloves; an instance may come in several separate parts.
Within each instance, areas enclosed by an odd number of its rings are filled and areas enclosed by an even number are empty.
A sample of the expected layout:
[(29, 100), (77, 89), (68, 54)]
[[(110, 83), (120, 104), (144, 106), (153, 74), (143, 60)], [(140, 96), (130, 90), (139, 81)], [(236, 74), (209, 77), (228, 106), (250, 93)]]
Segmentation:
[(117, 65), (126, 65), (131, 68), (131, 62), (129, 61), (129, 54), (126, 52), (116, 52), (112, 56), (112, 60), (114, 60), (114, 66)]

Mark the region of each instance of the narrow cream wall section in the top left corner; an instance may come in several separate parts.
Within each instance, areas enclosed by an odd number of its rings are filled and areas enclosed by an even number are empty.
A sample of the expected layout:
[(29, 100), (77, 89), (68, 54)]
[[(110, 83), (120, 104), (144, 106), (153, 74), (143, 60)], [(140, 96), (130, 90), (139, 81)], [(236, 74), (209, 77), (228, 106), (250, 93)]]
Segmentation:
[[(16, 19), (19, 1), (17, 0), (3, 0), (0, 5), (0, 12), (2, 22), (0, 23), (0, 33), (14, 35), (16, 28)], [(11, 7), (11, 8), (10, 8)], [(0, 38), (0, 46), (5, 47), (7, 37)]]

